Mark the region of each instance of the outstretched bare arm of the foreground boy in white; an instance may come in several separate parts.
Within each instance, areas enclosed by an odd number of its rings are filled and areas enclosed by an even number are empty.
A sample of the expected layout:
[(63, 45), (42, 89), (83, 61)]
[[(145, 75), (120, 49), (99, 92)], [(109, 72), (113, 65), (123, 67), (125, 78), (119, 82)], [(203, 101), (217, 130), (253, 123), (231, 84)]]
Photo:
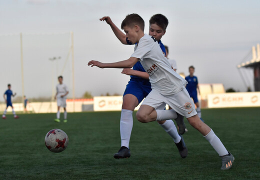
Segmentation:
[(102, 63), (97, 60), (90, 60), (87, 65), (97, 66), (100, 68), (131, 68), (136, 62), (138, 58), (130, 57), (127, 60), (122, 60), (118, 62), (111, 62), (111, 63)]

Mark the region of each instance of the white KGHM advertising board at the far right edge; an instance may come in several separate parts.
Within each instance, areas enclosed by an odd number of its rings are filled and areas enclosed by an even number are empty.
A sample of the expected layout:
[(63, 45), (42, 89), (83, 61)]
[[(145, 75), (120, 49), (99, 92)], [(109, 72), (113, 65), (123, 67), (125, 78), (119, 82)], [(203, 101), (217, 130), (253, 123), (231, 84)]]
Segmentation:
[(254, 107), (260, 106), (260, 92), (229, 92), (208, 94), (207, 107)]

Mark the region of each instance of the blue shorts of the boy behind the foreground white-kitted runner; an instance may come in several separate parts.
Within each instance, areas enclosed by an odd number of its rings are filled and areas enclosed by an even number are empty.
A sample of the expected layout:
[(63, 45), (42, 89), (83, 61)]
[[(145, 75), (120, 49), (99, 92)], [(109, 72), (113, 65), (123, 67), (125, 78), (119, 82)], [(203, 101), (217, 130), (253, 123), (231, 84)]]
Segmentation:
[(142, 99), (146, 97), (150, 91), (150, 83), (130, 79), (130, 81), (126, 85), (123, 95), (132, 94), (138, 99), (138, 103), (140, 103)]

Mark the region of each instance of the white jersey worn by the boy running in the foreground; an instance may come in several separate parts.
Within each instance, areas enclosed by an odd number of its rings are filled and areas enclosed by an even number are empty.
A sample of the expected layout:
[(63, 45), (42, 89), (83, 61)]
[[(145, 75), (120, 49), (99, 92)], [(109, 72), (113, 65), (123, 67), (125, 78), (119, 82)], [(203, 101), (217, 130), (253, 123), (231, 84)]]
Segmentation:
[(135, 44), (131, 56), (140, 59), (143, 68), (149, 74), (151, 88), (159, 93), (174, 94), (187, 84), (187, 81), (171, 68), (154, 37), (144, 34)]

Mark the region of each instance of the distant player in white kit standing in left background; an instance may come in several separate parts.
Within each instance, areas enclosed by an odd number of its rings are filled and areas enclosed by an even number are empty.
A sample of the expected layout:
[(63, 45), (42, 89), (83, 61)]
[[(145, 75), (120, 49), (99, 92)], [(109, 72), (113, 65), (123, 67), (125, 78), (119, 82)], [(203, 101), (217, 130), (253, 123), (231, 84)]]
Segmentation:
[(55, 99), (57, 99), (57, 106), (58, 106), (58, 110), (57, 110), (57, 114), (56, 114), (56, 118), (54, 119), (54, 121), (56, 122), (60, 122), (59, 117), (60, 117), (60, 112), (59, 109), (60, 107), (64, 108), (64, 120), (63, 122), (67, 122), (67, 111), (66, 111), (66, 95), (68, 94), (68, 88), (66, 86), (66, 84), (64, 84), (63, 82), (63, 77), (60, 75), (58, 76), (58, 84), (56, 85), (56, 94), (55, 94)]

